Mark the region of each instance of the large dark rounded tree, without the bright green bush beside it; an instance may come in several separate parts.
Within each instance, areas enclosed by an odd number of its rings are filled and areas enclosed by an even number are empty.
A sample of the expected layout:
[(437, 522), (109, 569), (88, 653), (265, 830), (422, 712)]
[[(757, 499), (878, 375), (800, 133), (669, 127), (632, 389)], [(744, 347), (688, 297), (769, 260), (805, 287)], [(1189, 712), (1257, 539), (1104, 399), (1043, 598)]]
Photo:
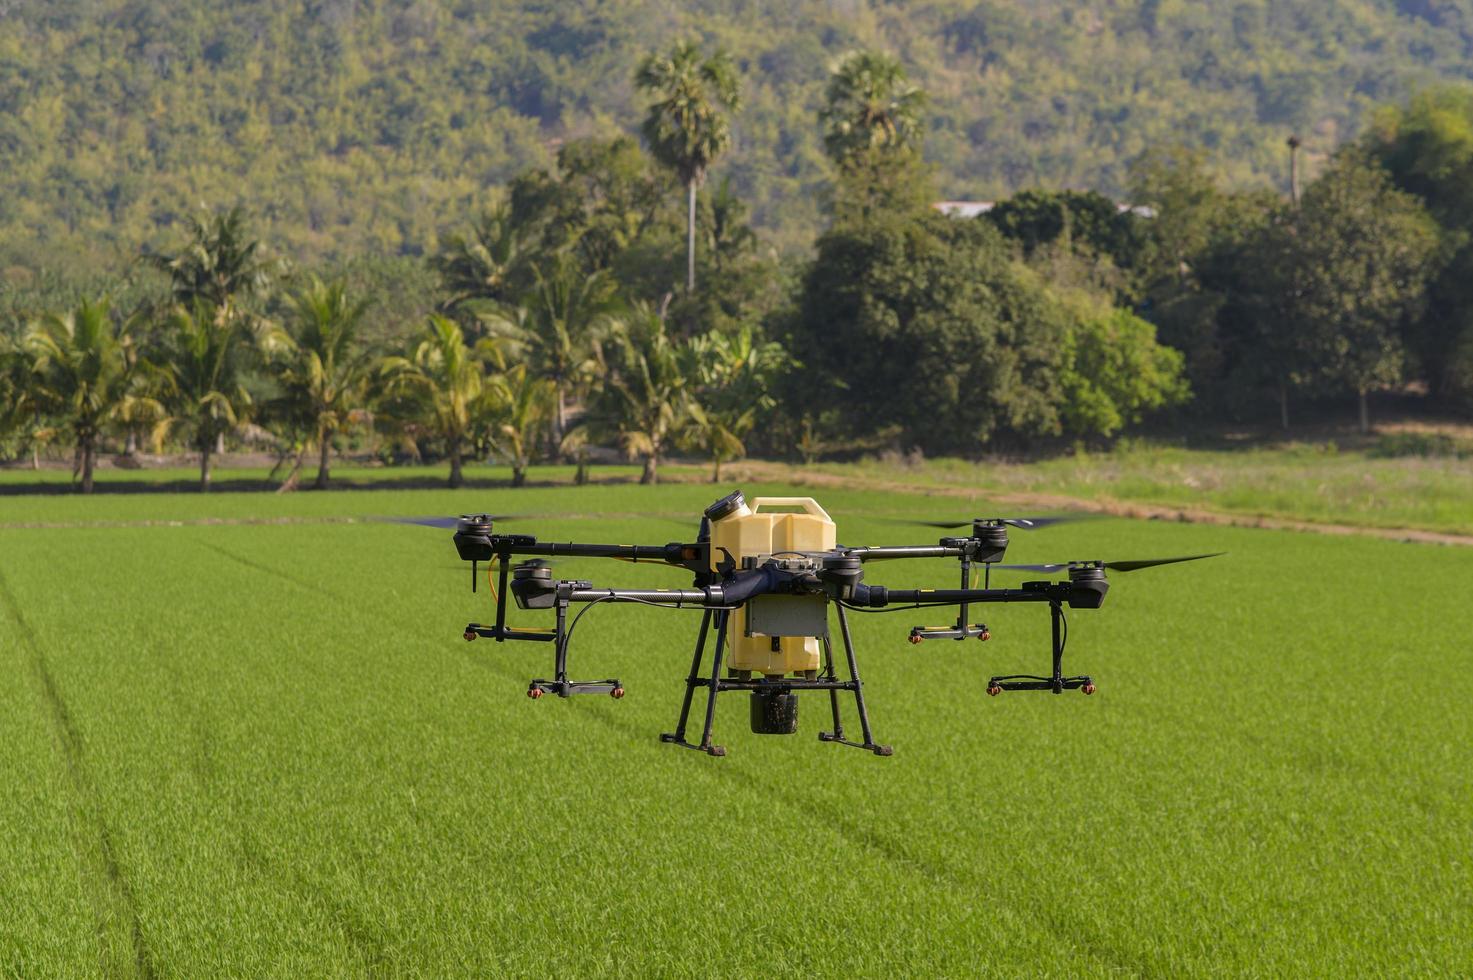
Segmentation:
[(972, 452), (999, 433), (1052, 435), (1068, 317), (984, 221), (929, 212), (819, 239), (782, 337), (804, 376), (794, 417), (819, 438), (885, 424), (901, 448)]

